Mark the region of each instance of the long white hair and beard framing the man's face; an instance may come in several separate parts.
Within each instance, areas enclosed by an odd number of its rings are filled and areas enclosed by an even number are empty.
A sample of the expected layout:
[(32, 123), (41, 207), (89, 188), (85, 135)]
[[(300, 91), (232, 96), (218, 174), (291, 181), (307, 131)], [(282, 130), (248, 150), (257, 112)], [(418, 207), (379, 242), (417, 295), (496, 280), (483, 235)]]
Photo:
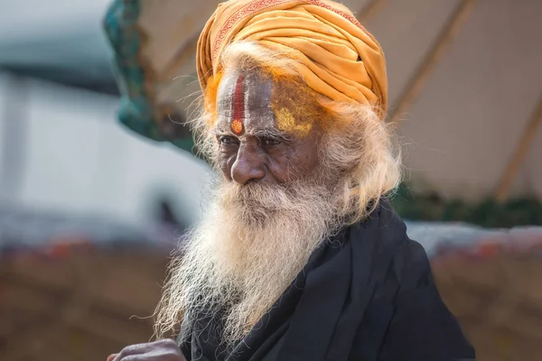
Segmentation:
[[(299, 78), (294, 60), (252, 42), (230, 45), (220, 69), (281, 69)], [(212, 132), (218, 82), (220, 77), (206, 89), (206, 104), (192, 123), (197, 148), (212, 165), (219, 151)], [(401, 165), (390, 126), (370, 106), (317, 101), (333, 122), (319, 146), (318, 179), (239, 186), (218, 177), (207, 213), (170, 265), (156, 309), (157, 337), (181, 322), (190, 330), (201, 315), (220, 314), (221, 340), (234, 344), (285, 292), (316, 247), (367, 217), (380, 197), (395, 190)]]

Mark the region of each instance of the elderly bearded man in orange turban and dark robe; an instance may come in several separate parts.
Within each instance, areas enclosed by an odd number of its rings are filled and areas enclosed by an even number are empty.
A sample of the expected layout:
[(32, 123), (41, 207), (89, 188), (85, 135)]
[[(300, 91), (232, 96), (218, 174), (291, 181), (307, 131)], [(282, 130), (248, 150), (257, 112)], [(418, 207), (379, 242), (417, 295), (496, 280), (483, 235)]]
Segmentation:
[(201, 32), (218, 172), (155, 325), (109, 360), (473, 360), (386, 200), (400, 162), (378, 42), (324, 0), (231, 0)]

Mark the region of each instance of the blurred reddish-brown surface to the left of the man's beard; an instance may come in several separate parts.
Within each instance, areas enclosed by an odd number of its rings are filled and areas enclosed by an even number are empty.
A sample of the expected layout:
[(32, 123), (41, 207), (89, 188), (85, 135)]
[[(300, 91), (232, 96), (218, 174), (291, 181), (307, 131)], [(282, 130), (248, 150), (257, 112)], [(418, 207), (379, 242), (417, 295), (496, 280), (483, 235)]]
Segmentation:
[(99, 361), (148, 341), (166, 263), (126, 251), (3, 259), (0, 360)]

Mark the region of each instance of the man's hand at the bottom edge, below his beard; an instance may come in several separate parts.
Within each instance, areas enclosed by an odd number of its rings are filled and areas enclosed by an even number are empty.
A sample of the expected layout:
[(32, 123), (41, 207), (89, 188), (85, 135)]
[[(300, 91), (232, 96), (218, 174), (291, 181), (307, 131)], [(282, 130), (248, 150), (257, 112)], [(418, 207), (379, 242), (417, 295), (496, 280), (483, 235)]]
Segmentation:
[(107, 361), (186, 361), (186, 358), (177, 343), (168, 338), (126, 346), (118, 354), (108, 356)]

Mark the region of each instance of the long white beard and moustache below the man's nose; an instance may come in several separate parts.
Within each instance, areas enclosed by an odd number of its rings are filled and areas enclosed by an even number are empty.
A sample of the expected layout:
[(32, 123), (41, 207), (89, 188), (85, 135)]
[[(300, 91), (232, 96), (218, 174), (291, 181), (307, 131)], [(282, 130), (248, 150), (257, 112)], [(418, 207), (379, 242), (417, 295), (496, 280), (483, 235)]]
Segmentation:
[(220, 340), (233, 346), (243, 338), (342, 224), (336, 197), (316, 183), (221, 181), (171, 265), (157, 326), (171, 328), (181, 316), (190, 330), (201, 312), (220, 313)]

